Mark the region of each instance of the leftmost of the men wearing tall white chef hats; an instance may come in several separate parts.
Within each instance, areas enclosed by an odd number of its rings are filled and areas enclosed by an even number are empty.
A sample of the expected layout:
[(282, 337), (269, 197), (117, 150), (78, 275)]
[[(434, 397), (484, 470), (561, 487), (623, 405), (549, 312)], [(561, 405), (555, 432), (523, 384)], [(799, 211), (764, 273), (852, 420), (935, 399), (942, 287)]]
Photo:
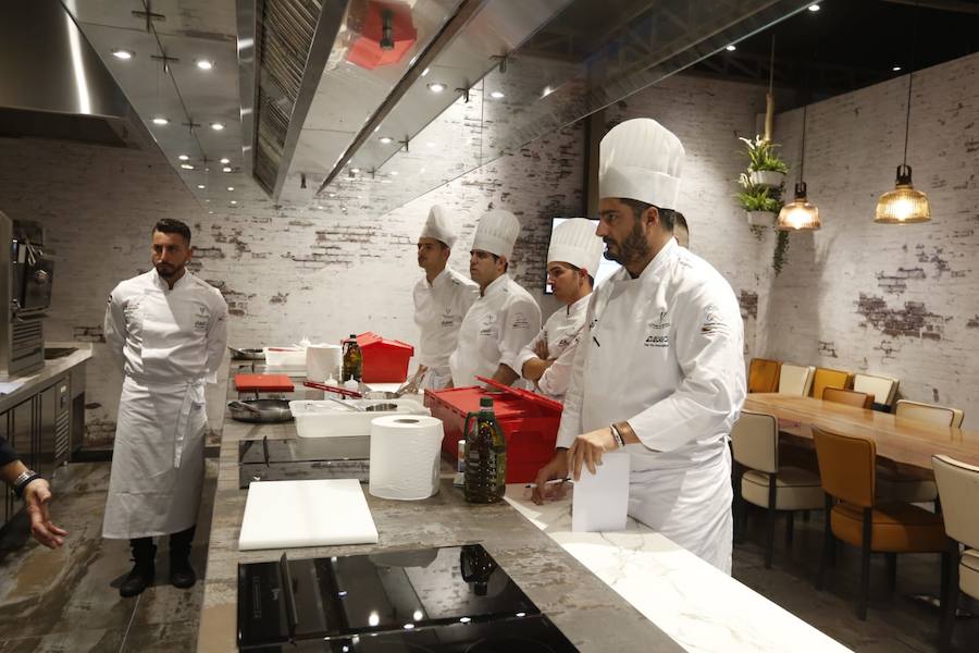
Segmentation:
[(446, 264), (456, 238), (448, 211), (433, 206), (418, 238), (418, 267), (425, 275), (413, 291), (414, 323), (421, 335), (419, 367), (408, 392), (439, 390), (451, 382), (448, 359), (456, 349), (462, 318), (480, 295), (475, 282)]

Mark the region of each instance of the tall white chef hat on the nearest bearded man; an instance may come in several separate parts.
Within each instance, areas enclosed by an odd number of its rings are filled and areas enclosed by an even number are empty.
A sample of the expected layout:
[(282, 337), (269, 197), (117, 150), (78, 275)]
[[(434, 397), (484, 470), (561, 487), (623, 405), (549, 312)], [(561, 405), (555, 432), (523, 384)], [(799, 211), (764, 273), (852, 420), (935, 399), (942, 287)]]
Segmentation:
[(684, 151), (672, 132), (649, 118), (628, 120), (605, 135), (598, 151), (599, 198), (677, 208)]

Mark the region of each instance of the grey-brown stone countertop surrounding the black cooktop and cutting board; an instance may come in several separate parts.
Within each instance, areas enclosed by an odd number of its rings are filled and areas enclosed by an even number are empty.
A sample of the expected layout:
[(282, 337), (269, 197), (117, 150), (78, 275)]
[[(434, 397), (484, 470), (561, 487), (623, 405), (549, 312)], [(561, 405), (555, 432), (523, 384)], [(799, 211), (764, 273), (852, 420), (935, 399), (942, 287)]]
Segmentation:
[[(233, 366), (232, 373), (235, 371)], [(228, 395), (236, 398), (233, 384)], [(282, 550), (238, 551), (248, 494), (238, 489), (238, 442), (263, 436), (294, 438), (295, 426), (225, 420), (197, 641), (201, 653), (237, 650), (238, 563), (276, 560), (282, 555)], [(683, 650), (507, 503), (467, 504), (461, 491), (453, 488), (449, 475), (438, 494), (425, 501), (385, 501), (371, 496), (365, 486), (364, 495), (380, 534), (376, 544), (289, 549), (289, 557), (481, 542), (581, 651)]]

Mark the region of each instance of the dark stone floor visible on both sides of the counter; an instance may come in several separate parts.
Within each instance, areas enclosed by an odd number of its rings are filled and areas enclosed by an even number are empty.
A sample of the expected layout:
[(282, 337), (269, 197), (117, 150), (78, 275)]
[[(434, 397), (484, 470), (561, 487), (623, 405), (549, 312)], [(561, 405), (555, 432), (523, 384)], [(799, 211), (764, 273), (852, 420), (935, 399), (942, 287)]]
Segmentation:
[[(189, 591), (171, 587), (165, 552), (158, 554), (154, 587), (136, 599), (119, 595), (131, 563), (124, 542), (99, 537), (108, 476), (108, 464), (72, 465), (59, 476), (53, 516), (71, 532), (61, 550), (49, 551), (29, 540), (23, 518), (0, 533), (0, 653), (194, 651), (202, 584)], [(193, 553), (201, 576), (215, 478), (216, 468), (209, 463)], [(859, 653), (937, 650), (938, 611), (908, 595), (938, 592), (938, 556), (902, 556), (894, 594), (887, 591), (883, 558), (875, 559), (869, 615), (860, 621), (853, 606), (856, 552), (841, 546), (829, 589), (817, 592), (813, 579), (821, 550), (821, 518), (797, 519), (790, 550), (782, 526), (773, 567), (765, 569), (763, 519), (755, 515), (747, 540), (734, 550), (735, 578)], [(979, 614), (979, 608), (969, 607)], [(979, 618), (958, 620), (955, 644), (957, 652), (979, 651)]]

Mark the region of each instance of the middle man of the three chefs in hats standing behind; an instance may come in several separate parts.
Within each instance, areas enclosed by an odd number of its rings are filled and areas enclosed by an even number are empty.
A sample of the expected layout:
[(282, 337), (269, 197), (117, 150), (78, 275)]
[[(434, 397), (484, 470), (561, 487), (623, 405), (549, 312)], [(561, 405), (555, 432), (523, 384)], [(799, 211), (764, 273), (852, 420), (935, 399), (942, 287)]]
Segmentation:
[(520, 222), (509, 211), (483, 213), (469, 257), (469, 274), (480, 286), (459, 329), (449, 358), (453, 385), (478, 385), (476, 375), (511, 385), (520, 378), (517, 356), (541, 330), (541, 309), (507, 273)]

